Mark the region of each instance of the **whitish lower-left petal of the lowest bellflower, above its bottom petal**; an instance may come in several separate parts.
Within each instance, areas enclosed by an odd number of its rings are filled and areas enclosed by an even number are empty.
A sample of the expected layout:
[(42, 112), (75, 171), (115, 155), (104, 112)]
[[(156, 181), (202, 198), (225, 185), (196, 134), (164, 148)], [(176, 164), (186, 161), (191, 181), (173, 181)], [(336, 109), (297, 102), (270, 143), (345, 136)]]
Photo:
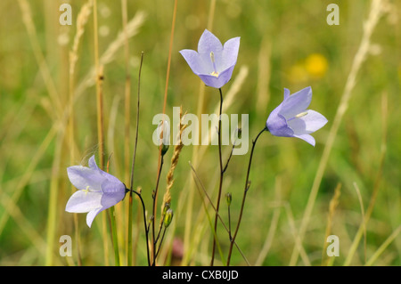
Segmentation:
[(94, 208), (102, 206), (102, 192), (76, 191), (71, 195), (65, 211), (74, 213), (85, 213)]

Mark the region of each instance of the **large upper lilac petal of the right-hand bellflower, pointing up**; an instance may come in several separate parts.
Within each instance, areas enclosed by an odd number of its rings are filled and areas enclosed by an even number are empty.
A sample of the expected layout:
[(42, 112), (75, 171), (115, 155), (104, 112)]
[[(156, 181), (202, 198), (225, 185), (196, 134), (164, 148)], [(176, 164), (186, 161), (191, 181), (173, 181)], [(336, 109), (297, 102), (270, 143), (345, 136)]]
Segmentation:
[[(286, 91), (284, 90), (284, 97), (285, 96)], [(308, 86), (297, 93), (287, 96), (284, 101), (282, 101), (282, 110), (280, 110), (280, 114), (286, 119), (293, 118), (299, 113), (307, 110), (310, 101), (312, 101), (312, 88)]]

